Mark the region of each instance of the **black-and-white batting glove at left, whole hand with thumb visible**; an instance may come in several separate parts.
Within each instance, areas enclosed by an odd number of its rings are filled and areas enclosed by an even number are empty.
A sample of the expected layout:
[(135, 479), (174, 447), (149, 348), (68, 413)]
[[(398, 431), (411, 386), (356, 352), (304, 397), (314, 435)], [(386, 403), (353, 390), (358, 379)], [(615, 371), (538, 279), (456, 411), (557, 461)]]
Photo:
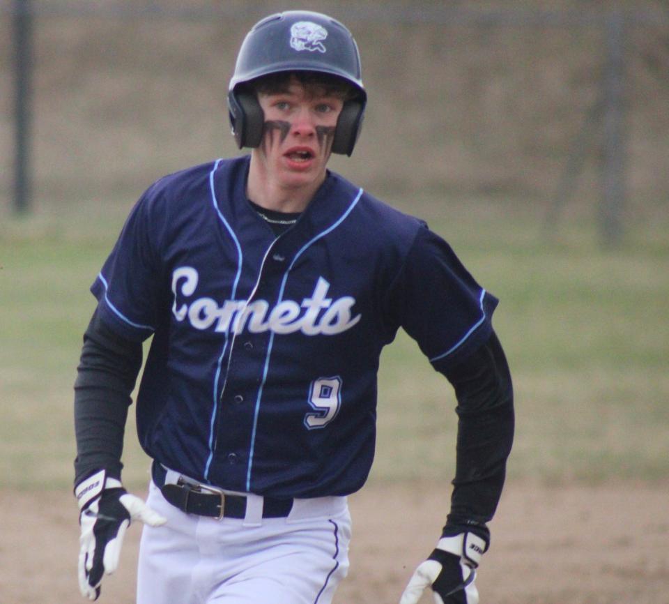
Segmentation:
[(144, 501), (129, 494), (116, 478), (100, 470), (75, 488), (79, 501), (79, 589), (82, 596), (97, 600), (103, 575), (118, 567), (125, 531), (132, 520), (151, 527), (167, 522)]

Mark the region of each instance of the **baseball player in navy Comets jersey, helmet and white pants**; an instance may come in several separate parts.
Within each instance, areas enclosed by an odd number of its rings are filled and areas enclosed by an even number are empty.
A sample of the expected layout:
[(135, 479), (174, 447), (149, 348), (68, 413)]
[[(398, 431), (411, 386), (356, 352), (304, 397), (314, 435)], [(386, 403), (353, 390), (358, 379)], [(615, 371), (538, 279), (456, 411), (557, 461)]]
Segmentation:
[[(344, 25), (267, 17), (229, 86), (250, 154), (165, 176), (132, 209), (91, 287), (75, 384), (89, 599), (140, 520), (139, 604), (330, 603), (348, 569), (346, 497), (374, 458), (380, 352), (402, 327), (454, 386), (459, 424), (445, 527), (401, 604), (427, 587), (438, 604), (478, 602), (514, 428), (498, 301), (422, 220), (327, 169), (353, 152), (366, 102)], [(121, 451), (149, 336), (143, 501), (123, 488)]]

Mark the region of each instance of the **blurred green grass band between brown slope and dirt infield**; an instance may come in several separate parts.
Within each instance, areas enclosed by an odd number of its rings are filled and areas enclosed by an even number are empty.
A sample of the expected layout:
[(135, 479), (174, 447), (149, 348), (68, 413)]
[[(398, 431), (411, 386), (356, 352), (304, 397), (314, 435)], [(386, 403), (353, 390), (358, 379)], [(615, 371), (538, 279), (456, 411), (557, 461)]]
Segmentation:
[[(127, 210), (0, 225), (4, 487), (70, 485), (72, 384), (93, 310), (88, 288)], [(620, 249), (603, 250), (589, 220), (562, 224), (547, 239), (536, 217), (518, 209), (458, 204), (442, 213), (433, 228), (501, 299), (495, 328), (516, 391), (509, 475), (669, 478), (669, 220), (629, 225)], [(382, 361), (372, 479), (451, 478), (454, 405), (450, 386), (401, 333)], [(126, 483), (144, 485), (133, 425), (125, 463)]]

